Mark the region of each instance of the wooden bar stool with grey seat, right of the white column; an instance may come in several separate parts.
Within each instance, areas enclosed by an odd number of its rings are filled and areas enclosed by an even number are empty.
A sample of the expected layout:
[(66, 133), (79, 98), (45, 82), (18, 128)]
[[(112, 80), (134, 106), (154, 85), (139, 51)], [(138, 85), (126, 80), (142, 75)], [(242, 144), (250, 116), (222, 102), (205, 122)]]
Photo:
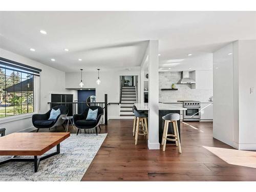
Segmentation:
[[(178, 124), (177, 124), (177, 121), (180, 120), (180, 114), (169, 113), (169, 114), (163, 116), (162, 118), (164, 120), (163, 137), (162, 137), (162, 143), (161, 143), (163, 145), (163, 151), (165, 151), (166, 140), (168, 140), (168, 141), (175, 141), (175, 145), (178, 146), (179, 153), (181, 153), (180, 137), (179, 137)], [(174, 135), (168, 134), (169, 122), (173, 123)], [(167, 137), (174, 137), (174, 139), (170, 139)]]

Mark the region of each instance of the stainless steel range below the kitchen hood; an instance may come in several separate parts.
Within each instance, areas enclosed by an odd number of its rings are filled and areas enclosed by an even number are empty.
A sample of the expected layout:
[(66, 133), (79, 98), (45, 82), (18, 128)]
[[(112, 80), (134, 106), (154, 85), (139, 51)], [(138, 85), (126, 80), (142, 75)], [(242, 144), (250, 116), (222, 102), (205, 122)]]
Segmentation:
[(201, 119), (201, 102), (200, 101), (178, 101), (183, 102), (183, 121), (200, 121)]

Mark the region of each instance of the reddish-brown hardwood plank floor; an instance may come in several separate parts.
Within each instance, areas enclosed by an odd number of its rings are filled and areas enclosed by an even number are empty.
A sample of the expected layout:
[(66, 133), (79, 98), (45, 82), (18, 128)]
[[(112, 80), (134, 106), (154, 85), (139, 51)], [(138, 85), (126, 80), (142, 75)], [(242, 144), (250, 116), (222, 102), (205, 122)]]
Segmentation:
[(108, 136), (82, 181), (256, 181), (256, 168), (228, 164), (203, 147), (232, 148), (212, 138), (211, 122), (181, 123), (182, 154), (168, 144), (165, 152), (148, 150), (143, 136), (135, 145), (132, 119), (108, 123), (100, 132)]

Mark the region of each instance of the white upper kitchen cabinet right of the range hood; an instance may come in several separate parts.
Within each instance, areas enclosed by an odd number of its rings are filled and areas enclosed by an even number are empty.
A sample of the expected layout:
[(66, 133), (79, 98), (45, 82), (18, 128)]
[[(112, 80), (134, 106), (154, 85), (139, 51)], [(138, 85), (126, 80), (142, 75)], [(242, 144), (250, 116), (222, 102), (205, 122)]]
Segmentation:
[(191, 89), (212, 89), (213, 88), (213, 75), (212, 71), (194, 71), (193, 78), (196, 83), (191, 85)]

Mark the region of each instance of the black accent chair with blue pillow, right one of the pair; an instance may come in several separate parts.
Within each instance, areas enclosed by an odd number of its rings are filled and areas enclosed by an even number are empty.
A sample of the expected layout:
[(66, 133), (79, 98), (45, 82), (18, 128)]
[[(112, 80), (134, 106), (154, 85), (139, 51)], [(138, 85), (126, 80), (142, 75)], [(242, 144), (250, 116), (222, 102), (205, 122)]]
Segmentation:
[[(97, 119), (96, 120), (86, 120), (89, 109), (96, 110), (98, 109)], [(97, 126), (100, 129), (100, 121), (102, 119), (103, 115), (103, 108), (100, 106), (89, 106), (82, 114), (75, 114), (73, 115), (73, 121), (75, 126), (78, 128), (76, 135), (78, 135), (78, 132), (80, 129), (96, 129), (96, 135), (98, 135)], [(101, 129), (100, 129), (101, 130)]]

